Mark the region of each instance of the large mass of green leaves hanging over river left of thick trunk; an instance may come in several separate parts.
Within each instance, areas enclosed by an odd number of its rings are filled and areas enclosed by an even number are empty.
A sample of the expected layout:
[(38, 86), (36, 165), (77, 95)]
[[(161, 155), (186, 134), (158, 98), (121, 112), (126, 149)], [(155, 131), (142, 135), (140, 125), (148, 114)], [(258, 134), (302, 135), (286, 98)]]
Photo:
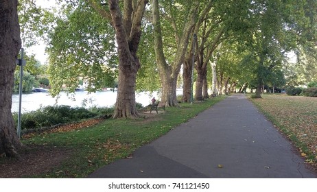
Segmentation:
[(68, 4), (56, 27), (49, 32), (49, 80), (52, 95), (66, 85), (75, 91), (79, 79), (87, 91), (112, 85), (117, 77), (113, 27), (86, 1)]

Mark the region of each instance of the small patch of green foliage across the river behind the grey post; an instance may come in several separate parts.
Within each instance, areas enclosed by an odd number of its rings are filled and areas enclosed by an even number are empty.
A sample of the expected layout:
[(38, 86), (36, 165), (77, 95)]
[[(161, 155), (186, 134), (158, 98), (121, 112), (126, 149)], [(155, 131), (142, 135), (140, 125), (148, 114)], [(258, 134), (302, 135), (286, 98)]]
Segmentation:
[[(35, 83), (35, 77), (30, 73), (24, 72), (22, 78), (22, 92), (23, 93), (31, 93), (32, 88)], [(15, 71), (14, 73), (14, 93), (19, 93), (19, 85), (20, 85), (20, 73), (19, 71)]]

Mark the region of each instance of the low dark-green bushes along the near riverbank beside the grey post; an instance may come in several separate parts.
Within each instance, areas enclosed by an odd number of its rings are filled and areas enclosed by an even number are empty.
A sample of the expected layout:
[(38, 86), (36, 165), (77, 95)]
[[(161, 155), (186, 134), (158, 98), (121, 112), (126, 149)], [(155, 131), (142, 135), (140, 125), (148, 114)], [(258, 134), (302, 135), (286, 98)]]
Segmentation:
[[(70, 123), (96, 117), (97, 113), (85, 108), (71, 108), (70, 106), (46, 106), (36, 111), (25, 112), (21, 116), (21, 128), (23, 130), (39, 129), (58, 125), (60, 123)], [(17, 113), (13, 115), (17, 122)]]

